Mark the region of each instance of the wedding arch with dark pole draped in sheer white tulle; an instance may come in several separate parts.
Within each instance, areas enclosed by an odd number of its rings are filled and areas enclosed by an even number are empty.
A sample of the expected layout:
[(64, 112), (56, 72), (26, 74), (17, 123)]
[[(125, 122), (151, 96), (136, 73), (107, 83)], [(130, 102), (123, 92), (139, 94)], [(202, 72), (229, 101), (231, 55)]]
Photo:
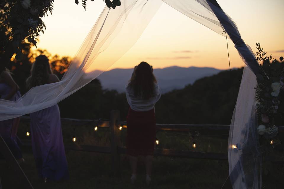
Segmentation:
[(261, 188), (253, 87), (263, 78), (251, 49), (216, 0), (121, 0), (116, 9), (106, 6), (60, 82), (33, 87), (16, 102), (0, 99), (0, 120), (51, 107), (91, 82), (134, 45), (163, 3), (230, 38), (245, 62), (229, 134), (229, 174), (235, 189)]

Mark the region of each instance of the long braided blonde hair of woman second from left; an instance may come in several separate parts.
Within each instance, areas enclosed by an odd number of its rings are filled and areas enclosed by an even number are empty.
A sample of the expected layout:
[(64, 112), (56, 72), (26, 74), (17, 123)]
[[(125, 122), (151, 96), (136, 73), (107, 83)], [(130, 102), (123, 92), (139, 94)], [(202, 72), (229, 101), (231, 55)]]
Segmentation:
[(30, 73), (31, 76), (26, 81), (28, 89), (47, 84), (49, 74), (52, 74), (52, 70), (49, 65), (49, 59), (45, 55), (37, 56)]

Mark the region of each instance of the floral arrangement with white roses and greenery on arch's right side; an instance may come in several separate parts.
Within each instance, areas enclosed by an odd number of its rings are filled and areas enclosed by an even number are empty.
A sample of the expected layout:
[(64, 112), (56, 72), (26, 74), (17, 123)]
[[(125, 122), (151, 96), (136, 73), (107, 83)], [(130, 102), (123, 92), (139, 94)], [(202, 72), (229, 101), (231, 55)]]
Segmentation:
[[(255, 56), (258, 61), (263, 81), (258, 80), (256, 85), (256, 109), (259, 126), (257, 131), (264, 139), (270, 140), (270, 144), (280, 144), (277, 139), (278, 127), (275, 118), (282, 120), (284, 115), (284, 62), (281, 56), (279, 60), (265, 56), (266, 52), (256, 43)], [(265, 57), (264, 57), (265, 56)], [(277, 122), (277, 121), (276, 121)], [(279, 123), (278, 123), (279, 124)]]

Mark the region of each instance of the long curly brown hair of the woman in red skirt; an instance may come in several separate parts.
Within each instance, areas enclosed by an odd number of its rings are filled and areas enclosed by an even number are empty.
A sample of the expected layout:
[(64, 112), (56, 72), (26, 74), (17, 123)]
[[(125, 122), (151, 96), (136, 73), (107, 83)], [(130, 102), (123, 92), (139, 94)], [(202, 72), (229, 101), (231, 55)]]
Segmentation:
[(134, 90), (134, 96), (141, 96), (143, 100), (154, 97), (156, 77), (152, 67), (147, 62), (141, 62), (135, 66), (128, 87)]

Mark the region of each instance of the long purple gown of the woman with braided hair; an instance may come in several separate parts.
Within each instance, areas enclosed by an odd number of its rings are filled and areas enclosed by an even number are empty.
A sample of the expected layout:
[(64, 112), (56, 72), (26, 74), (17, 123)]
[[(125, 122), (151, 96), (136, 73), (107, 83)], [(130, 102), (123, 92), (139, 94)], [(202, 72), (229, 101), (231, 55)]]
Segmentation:
[(56, 181), (68, 179), (58, 105), (31, 113), (30, 128), (39, 176)]

